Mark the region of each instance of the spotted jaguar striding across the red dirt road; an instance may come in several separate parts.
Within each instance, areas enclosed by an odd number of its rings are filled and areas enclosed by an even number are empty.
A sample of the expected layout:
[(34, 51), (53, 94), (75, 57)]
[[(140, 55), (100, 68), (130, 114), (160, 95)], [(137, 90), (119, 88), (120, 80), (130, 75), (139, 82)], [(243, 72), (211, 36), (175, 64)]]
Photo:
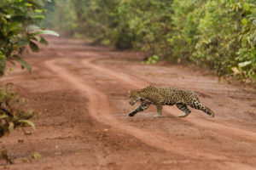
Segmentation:
[(191, 111), (188, 105), (194, 109), (204, 111), (209, 116), (214, 116), (212, 110), (201, 104), (195, 92), (183, 88), (158, 88), (150, 85), (146, 88), (131, 91), (130, 105), (135, 105), (139, 100), (141, 105), (131, 111), (129, 116), (135, 116), (138, 112), (145, 111), (149, 105), (156, 106), (157, 115), (154, 115), (155, 117), (162, 115), (163, 105), (176, 105), (179, 110), (183, 111), (183, 114), (179, 117), (189, 116)]

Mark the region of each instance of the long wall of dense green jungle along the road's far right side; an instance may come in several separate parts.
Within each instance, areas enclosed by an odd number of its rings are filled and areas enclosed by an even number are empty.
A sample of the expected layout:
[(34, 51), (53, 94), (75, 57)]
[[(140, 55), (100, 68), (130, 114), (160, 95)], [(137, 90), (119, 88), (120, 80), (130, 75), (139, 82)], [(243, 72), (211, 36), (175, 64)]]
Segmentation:
[(44, 25), (256, 81), (255, 0), (55, 0)]

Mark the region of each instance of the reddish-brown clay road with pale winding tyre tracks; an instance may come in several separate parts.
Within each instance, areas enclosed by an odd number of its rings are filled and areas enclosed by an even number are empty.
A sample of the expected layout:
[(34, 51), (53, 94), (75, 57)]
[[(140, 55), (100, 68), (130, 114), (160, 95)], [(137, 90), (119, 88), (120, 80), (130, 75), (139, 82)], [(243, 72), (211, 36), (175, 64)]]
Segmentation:
[[(37, 129), (1, 139), (14, 165), (0, 169), (256, 169), (256, 93), (218, 83), (207, 71), (182, 65), (143, 65), (142, 54), (50, 39), (26, 60), (33, 74), (8, 73), (37, 114)], [(187, 88), (215, 117), (191, 109), (185, 117), (153, 106), (129, 117), (129, 90), (149, 84)], [(137, 104), (138, 105), (138, 104)], [(18, 140), (23, 141), (19, 143)], [(38, 161), (27, 159), (38, 152)]]

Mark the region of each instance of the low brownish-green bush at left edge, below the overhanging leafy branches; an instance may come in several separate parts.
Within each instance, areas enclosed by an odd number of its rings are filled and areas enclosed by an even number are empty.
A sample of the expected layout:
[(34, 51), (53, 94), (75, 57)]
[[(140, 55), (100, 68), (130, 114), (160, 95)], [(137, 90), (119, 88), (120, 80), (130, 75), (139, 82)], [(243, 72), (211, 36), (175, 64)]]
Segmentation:
[(16, 127), (29, 125), (35, 128), (29, 119), (33, 111), (25, 111), (26, 101), (12, 91), (10, 84), (0, 86), (0, 138)]

